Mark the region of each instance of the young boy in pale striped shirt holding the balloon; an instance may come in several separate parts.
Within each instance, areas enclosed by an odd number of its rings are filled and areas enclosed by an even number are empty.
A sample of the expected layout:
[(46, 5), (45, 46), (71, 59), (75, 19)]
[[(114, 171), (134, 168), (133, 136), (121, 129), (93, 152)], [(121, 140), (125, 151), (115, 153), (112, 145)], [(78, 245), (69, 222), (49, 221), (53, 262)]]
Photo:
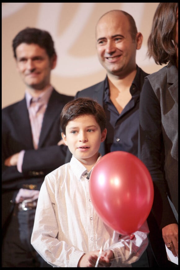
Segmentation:
[(95, 267), (101, 248), (98, 267), (131, 267), (147, 247), (147, 223), (130, 242), (102, 222), (89, 197), (90, 173), (107, 133), (103, 108), (90, 98), (70, 101), (61, 129), (73, 156), (43, 182), (31, 244), (54, 267)]

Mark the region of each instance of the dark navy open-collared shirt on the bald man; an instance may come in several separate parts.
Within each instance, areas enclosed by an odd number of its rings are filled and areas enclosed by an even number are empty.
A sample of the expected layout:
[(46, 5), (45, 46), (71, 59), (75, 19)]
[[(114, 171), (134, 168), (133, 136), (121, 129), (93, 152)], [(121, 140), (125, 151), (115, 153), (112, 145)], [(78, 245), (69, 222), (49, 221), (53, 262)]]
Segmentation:
[(108, 79), (106, 77), (104, 92), (104, 109), (107, 116), (106, 153), (126, 151), (137, 156), (139, 99), (146, 75), (137, 66), (137, 73), (130, 87), (132, 98), (120, 114), (110, 100)]

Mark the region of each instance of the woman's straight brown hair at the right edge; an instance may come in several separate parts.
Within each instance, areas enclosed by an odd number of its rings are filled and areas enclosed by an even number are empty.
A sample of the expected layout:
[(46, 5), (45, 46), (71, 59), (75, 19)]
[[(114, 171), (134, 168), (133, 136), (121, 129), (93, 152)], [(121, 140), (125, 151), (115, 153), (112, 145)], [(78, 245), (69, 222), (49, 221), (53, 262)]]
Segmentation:
[(149, 58), (156, 64), (176, 62), (175, 31), (178, 3), (160, 3), (155, 11), (151, 34), (147, 41)]

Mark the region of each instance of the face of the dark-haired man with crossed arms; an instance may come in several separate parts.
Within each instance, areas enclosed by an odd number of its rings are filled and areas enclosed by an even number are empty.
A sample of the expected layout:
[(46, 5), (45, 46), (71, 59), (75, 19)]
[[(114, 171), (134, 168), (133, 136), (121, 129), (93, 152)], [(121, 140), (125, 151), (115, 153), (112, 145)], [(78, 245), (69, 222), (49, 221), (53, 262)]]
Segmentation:
[(56, 57), (50, 59), (46, 50), (34, 43), (21, 43), (16, 48), (16, 56), (17, 70), (29, 89), (43, 90), (50, 84), (50, 73), (56, 66)]

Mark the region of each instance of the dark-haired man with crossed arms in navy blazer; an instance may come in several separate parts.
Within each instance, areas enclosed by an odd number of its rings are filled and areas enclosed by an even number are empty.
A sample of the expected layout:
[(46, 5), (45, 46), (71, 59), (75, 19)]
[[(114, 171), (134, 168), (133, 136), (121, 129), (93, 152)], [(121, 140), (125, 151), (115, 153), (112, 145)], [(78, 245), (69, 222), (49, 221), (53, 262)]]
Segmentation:
[(25, 28), (12, 46), (25, 97), (2, 109), (2, 267), (50, 267), (30, 238), (44, 177), (64, 164), (60, 113), (73, 97), (51, 85), (57, 55), (47, 31)]

